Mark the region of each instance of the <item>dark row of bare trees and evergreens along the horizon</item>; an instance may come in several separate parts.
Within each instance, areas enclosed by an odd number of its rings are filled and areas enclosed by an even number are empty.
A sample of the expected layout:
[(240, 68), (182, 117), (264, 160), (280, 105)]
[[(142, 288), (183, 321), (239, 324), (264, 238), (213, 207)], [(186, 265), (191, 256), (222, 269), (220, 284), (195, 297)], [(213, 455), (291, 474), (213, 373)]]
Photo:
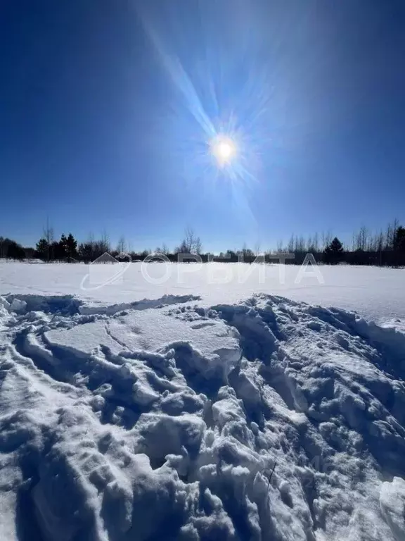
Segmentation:
[(191, 228), (186, 229), (184, 239), (172, 251), (163, 244), (162, 247), (158, 247), (154, 251), (136, 252), (131, 250), (124, 237), (121, 237), (117, 246), (113, 248), (106, 233), (100, 239), (89, 235), (89, 239), (85, 242), (78, 242), (71, 232), (67, 236), (62, 234), (59, 240), (54, 240), (53, 229), (49, 226), (44, 229), (35, 248), (23, 247), (14, 240), (0, 237), (0, 258), (6, 259), (89, 263), (103, 256), (105, 252), (115, 259), (127, 259), (127, 256), (130, 256), (132, 261), (143, 261), (151, 254), (163, 254), (169, 261), (193, 261), (193, 258), (184, 258), (179, 254), (198, 254), (203, 262), (245, 261), (252, 263), (259, 256), (261, 261), (270, 263), (277, 261), (277, 254), (283, 254), (281, 257), (285, 263), (301, 264), (307, 254), (312, 254), (317, 263), (405, 266), (405, 228), (399, 225), (397, 220), (387, 225), (384, 232), (380, 231), (375, 234), (371, 234), (365, 227), (362, 227), (352, 236), (351, 245), (346, 246), (338, 237), (332, 237), (330, 233), (326, 235), (315, 234), (307, 239), (292, 235), (286, 244), (278, 242), (274, 250), (262, 251), (259, 246), (256, 246), (255, 249), (244, 246), (240, 250), (229, 249), (216, 256), (203, 252), (200, 237), (195, 235)]

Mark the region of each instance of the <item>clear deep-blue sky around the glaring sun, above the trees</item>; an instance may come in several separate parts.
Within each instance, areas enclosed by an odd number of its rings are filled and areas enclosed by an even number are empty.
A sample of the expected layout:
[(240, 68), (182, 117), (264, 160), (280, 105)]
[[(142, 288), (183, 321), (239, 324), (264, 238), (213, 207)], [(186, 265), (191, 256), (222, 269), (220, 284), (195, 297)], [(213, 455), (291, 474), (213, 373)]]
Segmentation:
[(405, 222), (404, 0), (2, 1), (0, 46), (0, 235), (191, 225), (215, 251)]

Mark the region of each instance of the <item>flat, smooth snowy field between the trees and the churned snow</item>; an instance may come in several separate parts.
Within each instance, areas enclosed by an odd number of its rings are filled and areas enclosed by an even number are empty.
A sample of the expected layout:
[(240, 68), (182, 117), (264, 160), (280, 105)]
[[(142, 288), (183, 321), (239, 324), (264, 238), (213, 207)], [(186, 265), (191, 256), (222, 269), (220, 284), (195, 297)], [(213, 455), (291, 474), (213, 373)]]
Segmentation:
[(203, 306), (211, 306), (268, 293), (339, 306), (375, 321), (405, 319), (405, 269), (319, 266), (320, 283), (311, 266), (302, 273), (300, 266), (276, 264), (131, 263), (116, 283), (98, 287), (105, 273), (115, 273), (113, 267), (0, 262), (0, 294), (71, 294), (96, 304), (193, 295)]

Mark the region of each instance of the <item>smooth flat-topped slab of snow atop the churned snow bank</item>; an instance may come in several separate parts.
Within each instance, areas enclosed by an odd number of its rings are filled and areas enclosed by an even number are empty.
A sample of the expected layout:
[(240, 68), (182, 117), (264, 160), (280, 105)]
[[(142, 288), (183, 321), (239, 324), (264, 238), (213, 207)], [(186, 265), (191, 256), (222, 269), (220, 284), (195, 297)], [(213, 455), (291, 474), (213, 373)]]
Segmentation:
[[(205, 313), (200, 310), (200, 313)], [(191, 321), (168, 318), (167, 311), (124, 311), (110, 321), (94, 321), (70, 330), (58, 328), (45, 332), (44, 341), (82, 357), (97, 354), (120, 354), (131, 359), (145, 352), (158, 353), (176, 349), (193, 350), (193, 363), (205, 375), (230, 369), (240, 359), (238, 332), (222, 321)], [(167, 338), (170, 337), (170, 344)]]

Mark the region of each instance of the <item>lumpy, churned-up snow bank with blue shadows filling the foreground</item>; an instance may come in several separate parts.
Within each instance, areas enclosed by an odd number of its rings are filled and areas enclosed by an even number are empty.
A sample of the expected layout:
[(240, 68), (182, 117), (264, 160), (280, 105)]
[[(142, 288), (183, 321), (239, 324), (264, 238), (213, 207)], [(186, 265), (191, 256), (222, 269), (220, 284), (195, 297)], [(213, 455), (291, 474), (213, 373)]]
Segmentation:
[(0, 538), (404, 540), (404, 374), (282, 297), (0, 297)]

